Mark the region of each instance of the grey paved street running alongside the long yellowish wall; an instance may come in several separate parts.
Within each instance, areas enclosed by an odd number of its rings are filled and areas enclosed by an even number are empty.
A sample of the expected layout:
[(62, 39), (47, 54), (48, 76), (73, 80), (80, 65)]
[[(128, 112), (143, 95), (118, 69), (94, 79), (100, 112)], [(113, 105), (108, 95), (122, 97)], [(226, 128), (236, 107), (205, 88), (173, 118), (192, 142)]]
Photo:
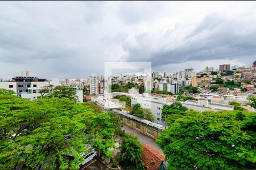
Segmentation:
[(139, 133), (139, 131), (136, 131), (136, 130), (130, 128), (129, 126), (124, 125), (124, 124), (123, 124), (123, 128), (122, 129), (125, 130), (127, 133), (131, 133), (131, 134), (134, 134), (134, 135), (138, 136), (139, 137), (139, 141), (141, 141), (141, 143), (147, 143), (148, 145), (151, 145), (157, 151), (159, 151), (160, 153), (163, 154), (163, 151), (155, 143), (154, 139), (151, 139), (150, 137), (147, 137), (146, 135), (143, 135), (142, 133)]

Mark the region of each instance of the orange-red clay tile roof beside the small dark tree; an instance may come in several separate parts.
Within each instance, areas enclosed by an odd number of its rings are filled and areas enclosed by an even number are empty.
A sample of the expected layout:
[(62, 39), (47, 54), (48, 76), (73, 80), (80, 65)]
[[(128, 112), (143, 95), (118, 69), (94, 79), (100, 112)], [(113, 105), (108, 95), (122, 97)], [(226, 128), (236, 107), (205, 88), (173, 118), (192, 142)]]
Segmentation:
[(146, 165), (147, 169), (163, 169), (163, 162), (165, 156), (155, 150), (154, 147), (143, 144), (142, 162)]

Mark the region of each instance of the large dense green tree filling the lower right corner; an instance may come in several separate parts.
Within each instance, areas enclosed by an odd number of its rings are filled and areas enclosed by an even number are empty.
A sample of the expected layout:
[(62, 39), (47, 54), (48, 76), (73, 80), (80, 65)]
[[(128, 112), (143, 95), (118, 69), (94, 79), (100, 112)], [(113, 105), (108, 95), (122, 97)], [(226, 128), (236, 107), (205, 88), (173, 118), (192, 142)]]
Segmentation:
[[(239, 111), (241, 112), (241, 111)], [(156, 143), (162, 148), (170, 169), (254, 169), (255, 113), (188, 111), (167, 118)], [(185, 156), (184, 156), (185, 155)]]

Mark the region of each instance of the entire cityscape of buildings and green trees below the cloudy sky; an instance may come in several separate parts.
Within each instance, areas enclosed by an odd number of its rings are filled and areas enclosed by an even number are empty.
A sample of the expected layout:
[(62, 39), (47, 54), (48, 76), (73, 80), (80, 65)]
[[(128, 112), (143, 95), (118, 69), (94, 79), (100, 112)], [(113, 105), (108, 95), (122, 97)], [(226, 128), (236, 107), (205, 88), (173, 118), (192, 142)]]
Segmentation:
[[(0, 82), (1, 169), (253, 169), (256, 67)], [(225, 69), (225, 70), (224, 70)]]

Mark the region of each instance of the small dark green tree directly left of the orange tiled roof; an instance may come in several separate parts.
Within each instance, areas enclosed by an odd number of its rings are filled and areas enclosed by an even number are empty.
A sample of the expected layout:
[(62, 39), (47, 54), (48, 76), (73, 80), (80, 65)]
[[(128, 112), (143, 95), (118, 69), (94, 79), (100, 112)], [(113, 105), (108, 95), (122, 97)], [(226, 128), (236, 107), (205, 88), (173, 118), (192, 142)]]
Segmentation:
[(131, 134), (125, 134), (122, 138), (118, 152), (118, 162), (123, 169), (144, 169), (145, 166), (141, 161), (143, 147), (138, 137)]

